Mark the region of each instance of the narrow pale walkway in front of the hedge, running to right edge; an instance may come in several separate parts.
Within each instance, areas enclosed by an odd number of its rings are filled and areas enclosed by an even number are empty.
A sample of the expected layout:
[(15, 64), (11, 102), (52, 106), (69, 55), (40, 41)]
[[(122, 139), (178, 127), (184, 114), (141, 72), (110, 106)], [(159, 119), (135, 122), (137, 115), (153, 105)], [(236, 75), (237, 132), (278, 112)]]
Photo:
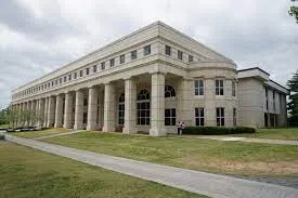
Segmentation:
[(251, 138), (251, 137), (237, 137), (224, 135), (182, 135), (187, 138), (207, 138), (215, 141), (239, 141), (247, 143), (264, 143), (264, 144), (281, 144), (281, 145), (298, 145), (298, 141), (283, 141), (283, 140), (269, 140), (269, 138)]

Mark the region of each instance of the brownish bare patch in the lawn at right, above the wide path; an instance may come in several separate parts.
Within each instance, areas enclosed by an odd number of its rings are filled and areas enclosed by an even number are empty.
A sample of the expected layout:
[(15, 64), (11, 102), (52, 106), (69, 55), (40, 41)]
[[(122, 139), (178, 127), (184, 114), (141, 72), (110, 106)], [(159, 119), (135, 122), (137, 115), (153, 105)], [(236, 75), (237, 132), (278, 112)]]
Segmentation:
[(189, 169), (238, 175), (298, 176), (297, 161), (229, 161), (224, 159), (204, 159), (186, 157), (177, 161)]

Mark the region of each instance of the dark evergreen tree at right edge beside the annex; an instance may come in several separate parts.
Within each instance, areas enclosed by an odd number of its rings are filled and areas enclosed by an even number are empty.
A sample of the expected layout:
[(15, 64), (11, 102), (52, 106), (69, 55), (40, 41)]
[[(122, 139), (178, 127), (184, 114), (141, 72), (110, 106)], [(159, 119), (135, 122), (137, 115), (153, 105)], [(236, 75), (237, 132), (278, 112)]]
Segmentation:
[(298, 127), (298, 70), (290, 80), (287, 81), (290, 91), (289, 102), (287, 104), (289, 116), (289, 124)]

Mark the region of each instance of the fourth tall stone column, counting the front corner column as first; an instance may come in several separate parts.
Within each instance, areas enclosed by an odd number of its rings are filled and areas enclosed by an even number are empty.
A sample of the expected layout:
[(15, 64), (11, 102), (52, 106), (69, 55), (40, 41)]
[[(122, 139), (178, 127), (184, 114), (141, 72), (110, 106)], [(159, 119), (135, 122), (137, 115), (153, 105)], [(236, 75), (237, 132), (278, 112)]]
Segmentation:
[(95, 88), (89, 88), (87, 130), (96, 130), (98, 97)]

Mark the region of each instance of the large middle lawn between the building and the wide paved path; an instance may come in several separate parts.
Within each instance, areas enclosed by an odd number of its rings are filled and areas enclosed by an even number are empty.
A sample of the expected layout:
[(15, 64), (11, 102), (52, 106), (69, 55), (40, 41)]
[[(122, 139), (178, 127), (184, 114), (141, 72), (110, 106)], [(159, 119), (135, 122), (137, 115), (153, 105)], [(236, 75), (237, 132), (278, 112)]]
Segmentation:
[(43, 141), (215, 173), (298, 176), (297, 146), (102, 132), (82, 132)]

